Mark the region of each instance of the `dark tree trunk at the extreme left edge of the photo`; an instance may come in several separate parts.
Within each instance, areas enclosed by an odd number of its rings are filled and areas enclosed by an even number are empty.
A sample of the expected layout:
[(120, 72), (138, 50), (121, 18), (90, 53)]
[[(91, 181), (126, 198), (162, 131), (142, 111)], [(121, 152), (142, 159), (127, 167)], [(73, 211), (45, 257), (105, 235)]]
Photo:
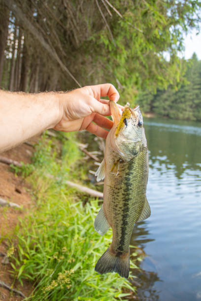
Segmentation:
[(8, 36), (9, 10), (0, 4), (0, 87), (3, 74), (4, 50)]

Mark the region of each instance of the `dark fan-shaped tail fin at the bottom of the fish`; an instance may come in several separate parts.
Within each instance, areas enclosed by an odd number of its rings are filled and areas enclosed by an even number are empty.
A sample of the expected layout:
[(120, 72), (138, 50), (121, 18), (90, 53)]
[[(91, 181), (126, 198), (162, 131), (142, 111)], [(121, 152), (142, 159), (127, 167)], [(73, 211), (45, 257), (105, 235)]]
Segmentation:
[(108, 272), (117, 272), (121, 277), (129, 277), (129, 266), (130, 266), (130, 250), (126, 254), (115, 256), (111, 254), (109, 248), (98, 260), (95, 271), (100, 274)]

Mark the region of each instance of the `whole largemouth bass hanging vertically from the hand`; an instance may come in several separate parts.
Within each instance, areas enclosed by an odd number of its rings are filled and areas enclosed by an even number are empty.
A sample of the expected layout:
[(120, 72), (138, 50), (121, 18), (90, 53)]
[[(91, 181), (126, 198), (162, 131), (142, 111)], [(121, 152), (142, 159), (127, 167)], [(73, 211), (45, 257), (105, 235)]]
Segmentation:
[(114, 101), (109, 102), (113, 119), (106, 142), (104, 158), (96, 172), (104, 179), (103, 204), (95, 218), (94, 228), (104, 235), (112, 228), (112, 242), (98, 260), (95, 271), (117, 272), (128, 278), (130, 240), (134, 224), (151, 214), (146, 198), (148, 181), (148, 148), (139, 106), (127, 103), (122, 114)]

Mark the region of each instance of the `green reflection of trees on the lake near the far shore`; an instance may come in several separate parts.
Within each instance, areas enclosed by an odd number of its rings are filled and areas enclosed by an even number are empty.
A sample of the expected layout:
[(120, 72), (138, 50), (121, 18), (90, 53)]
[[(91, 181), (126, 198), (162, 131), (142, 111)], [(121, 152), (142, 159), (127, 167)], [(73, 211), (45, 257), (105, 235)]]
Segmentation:
[[(173, 123), (172, 123), (173, 122)], [(201, 124), (181, 125), (181, 121), (145, 120), (145, 132), (150, 151), (150, 164), (158, 162), (166, 168), (174, 168), (175, 176), (181, 178), (186, 170), (201, 172)]]

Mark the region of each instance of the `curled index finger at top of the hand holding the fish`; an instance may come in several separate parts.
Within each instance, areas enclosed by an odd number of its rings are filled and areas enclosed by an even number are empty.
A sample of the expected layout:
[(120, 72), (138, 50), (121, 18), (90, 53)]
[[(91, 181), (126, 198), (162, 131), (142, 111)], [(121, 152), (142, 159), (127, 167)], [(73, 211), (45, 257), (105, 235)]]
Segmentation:
[(100, 100), (101, 96), (108, 96), (109, 100), (117, 102), (119, 100), (119, 92), (112, 84), (100, 84), (96, 86), (90, 86), (94, 98)]

